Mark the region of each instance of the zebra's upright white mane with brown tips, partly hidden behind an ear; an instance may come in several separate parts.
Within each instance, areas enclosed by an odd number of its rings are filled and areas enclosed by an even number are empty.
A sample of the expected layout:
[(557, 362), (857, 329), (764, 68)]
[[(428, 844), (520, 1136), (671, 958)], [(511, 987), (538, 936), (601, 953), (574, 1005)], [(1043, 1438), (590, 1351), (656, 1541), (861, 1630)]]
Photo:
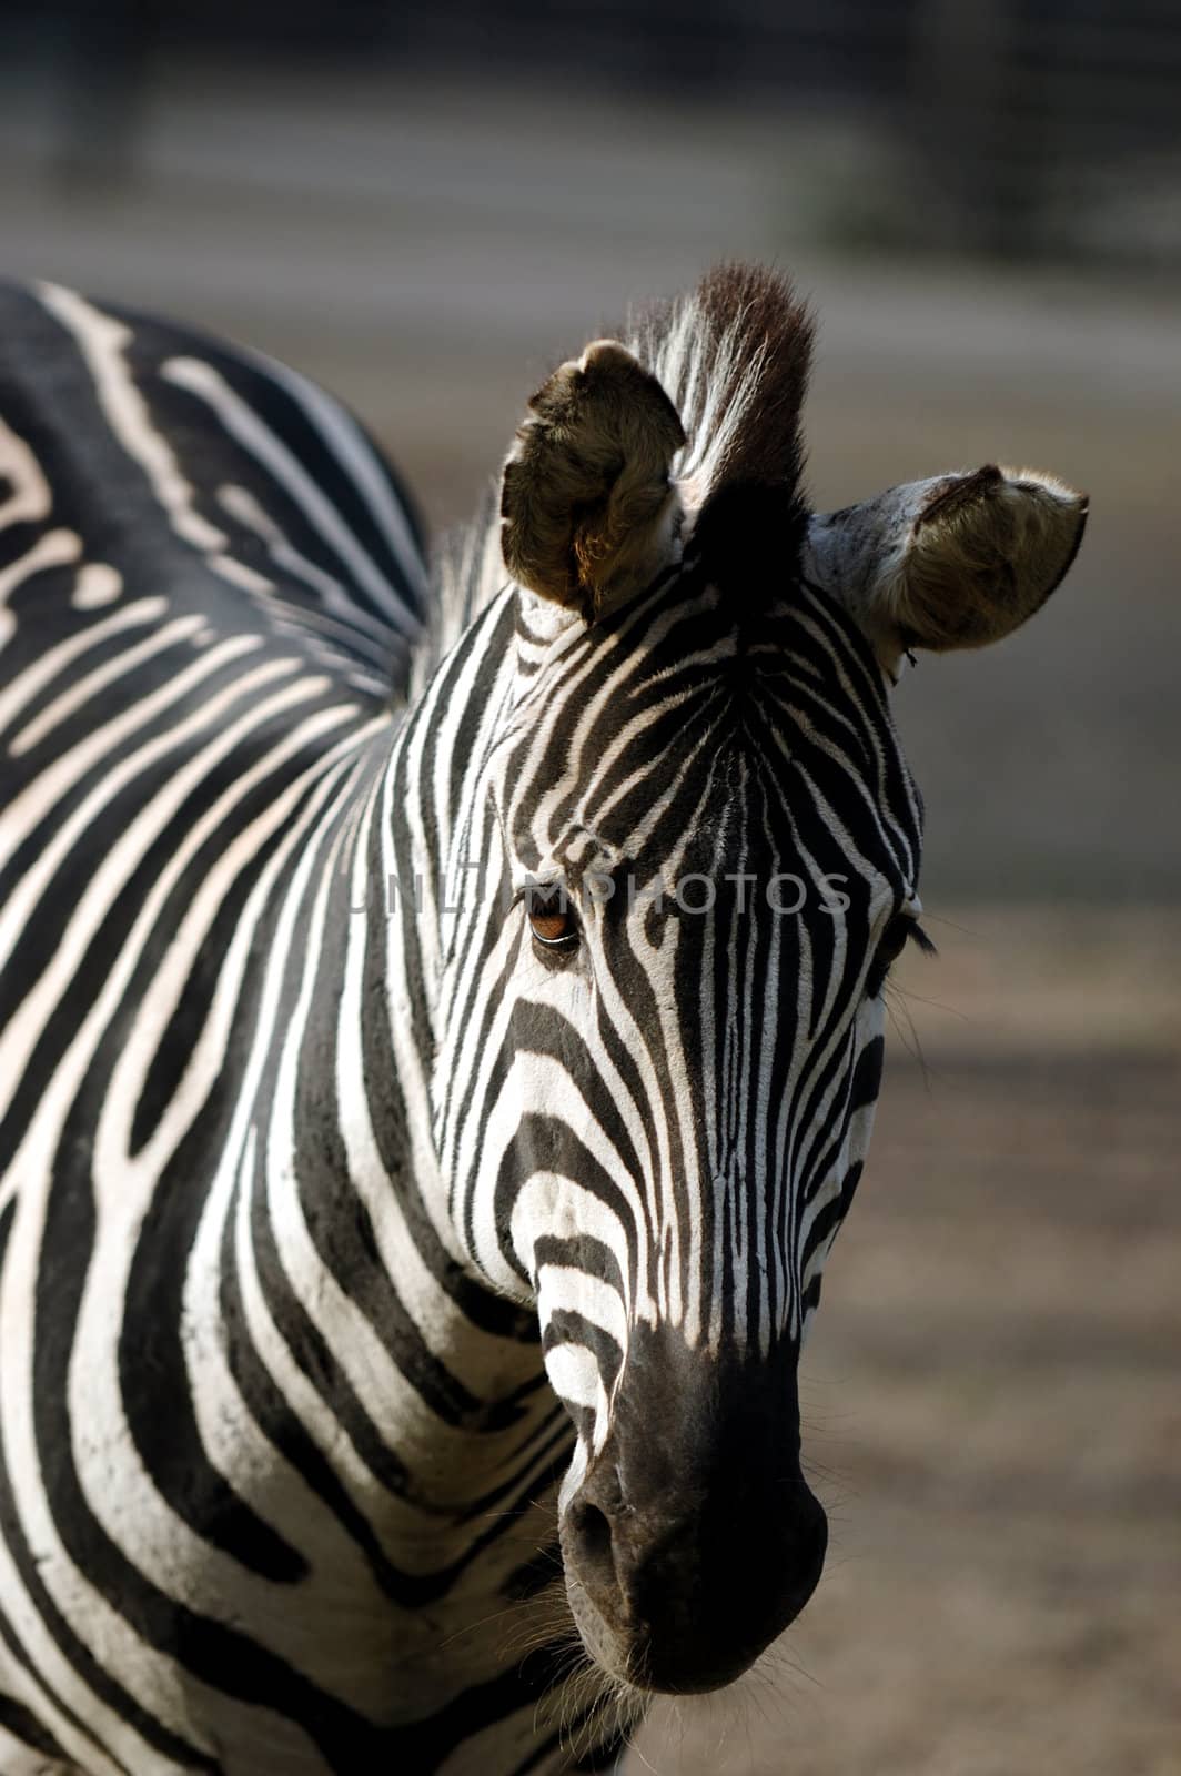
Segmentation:
[[(723, 488), (773, 488), (781, 510), (797, 503), (813, 321), (781, 272), (717, 265), (689, 293), (638, 309), (607, 334), (654, 371), (680, 414), (686, 446), (673, 476), (689, 517)], [(504, 583), (499, 497), (490, 490), (476, 519), (435, 552), (416, 693)]]

